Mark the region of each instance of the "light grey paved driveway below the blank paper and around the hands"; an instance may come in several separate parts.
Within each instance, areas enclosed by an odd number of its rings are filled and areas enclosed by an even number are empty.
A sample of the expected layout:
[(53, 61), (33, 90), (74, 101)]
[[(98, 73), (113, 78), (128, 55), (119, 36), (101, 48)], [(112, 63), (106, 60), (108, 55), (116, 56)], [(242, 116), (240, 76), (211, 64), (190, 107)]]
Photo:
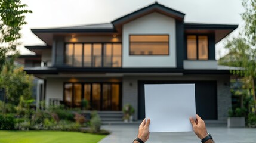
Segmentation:
[[(112, 133), (100, 141), (100, 143), (132, 142), (137, 136), (138, 125), (104, 125), (103, 129), (110, 130)], [(208, 132), (217, 143), (255, 143), (256, 128), (226, 128), (208, 127)], [(171, 133), (150, 133), (147, 143), (154, 142), (201, 142), (193, 132), (171, 132)]]

